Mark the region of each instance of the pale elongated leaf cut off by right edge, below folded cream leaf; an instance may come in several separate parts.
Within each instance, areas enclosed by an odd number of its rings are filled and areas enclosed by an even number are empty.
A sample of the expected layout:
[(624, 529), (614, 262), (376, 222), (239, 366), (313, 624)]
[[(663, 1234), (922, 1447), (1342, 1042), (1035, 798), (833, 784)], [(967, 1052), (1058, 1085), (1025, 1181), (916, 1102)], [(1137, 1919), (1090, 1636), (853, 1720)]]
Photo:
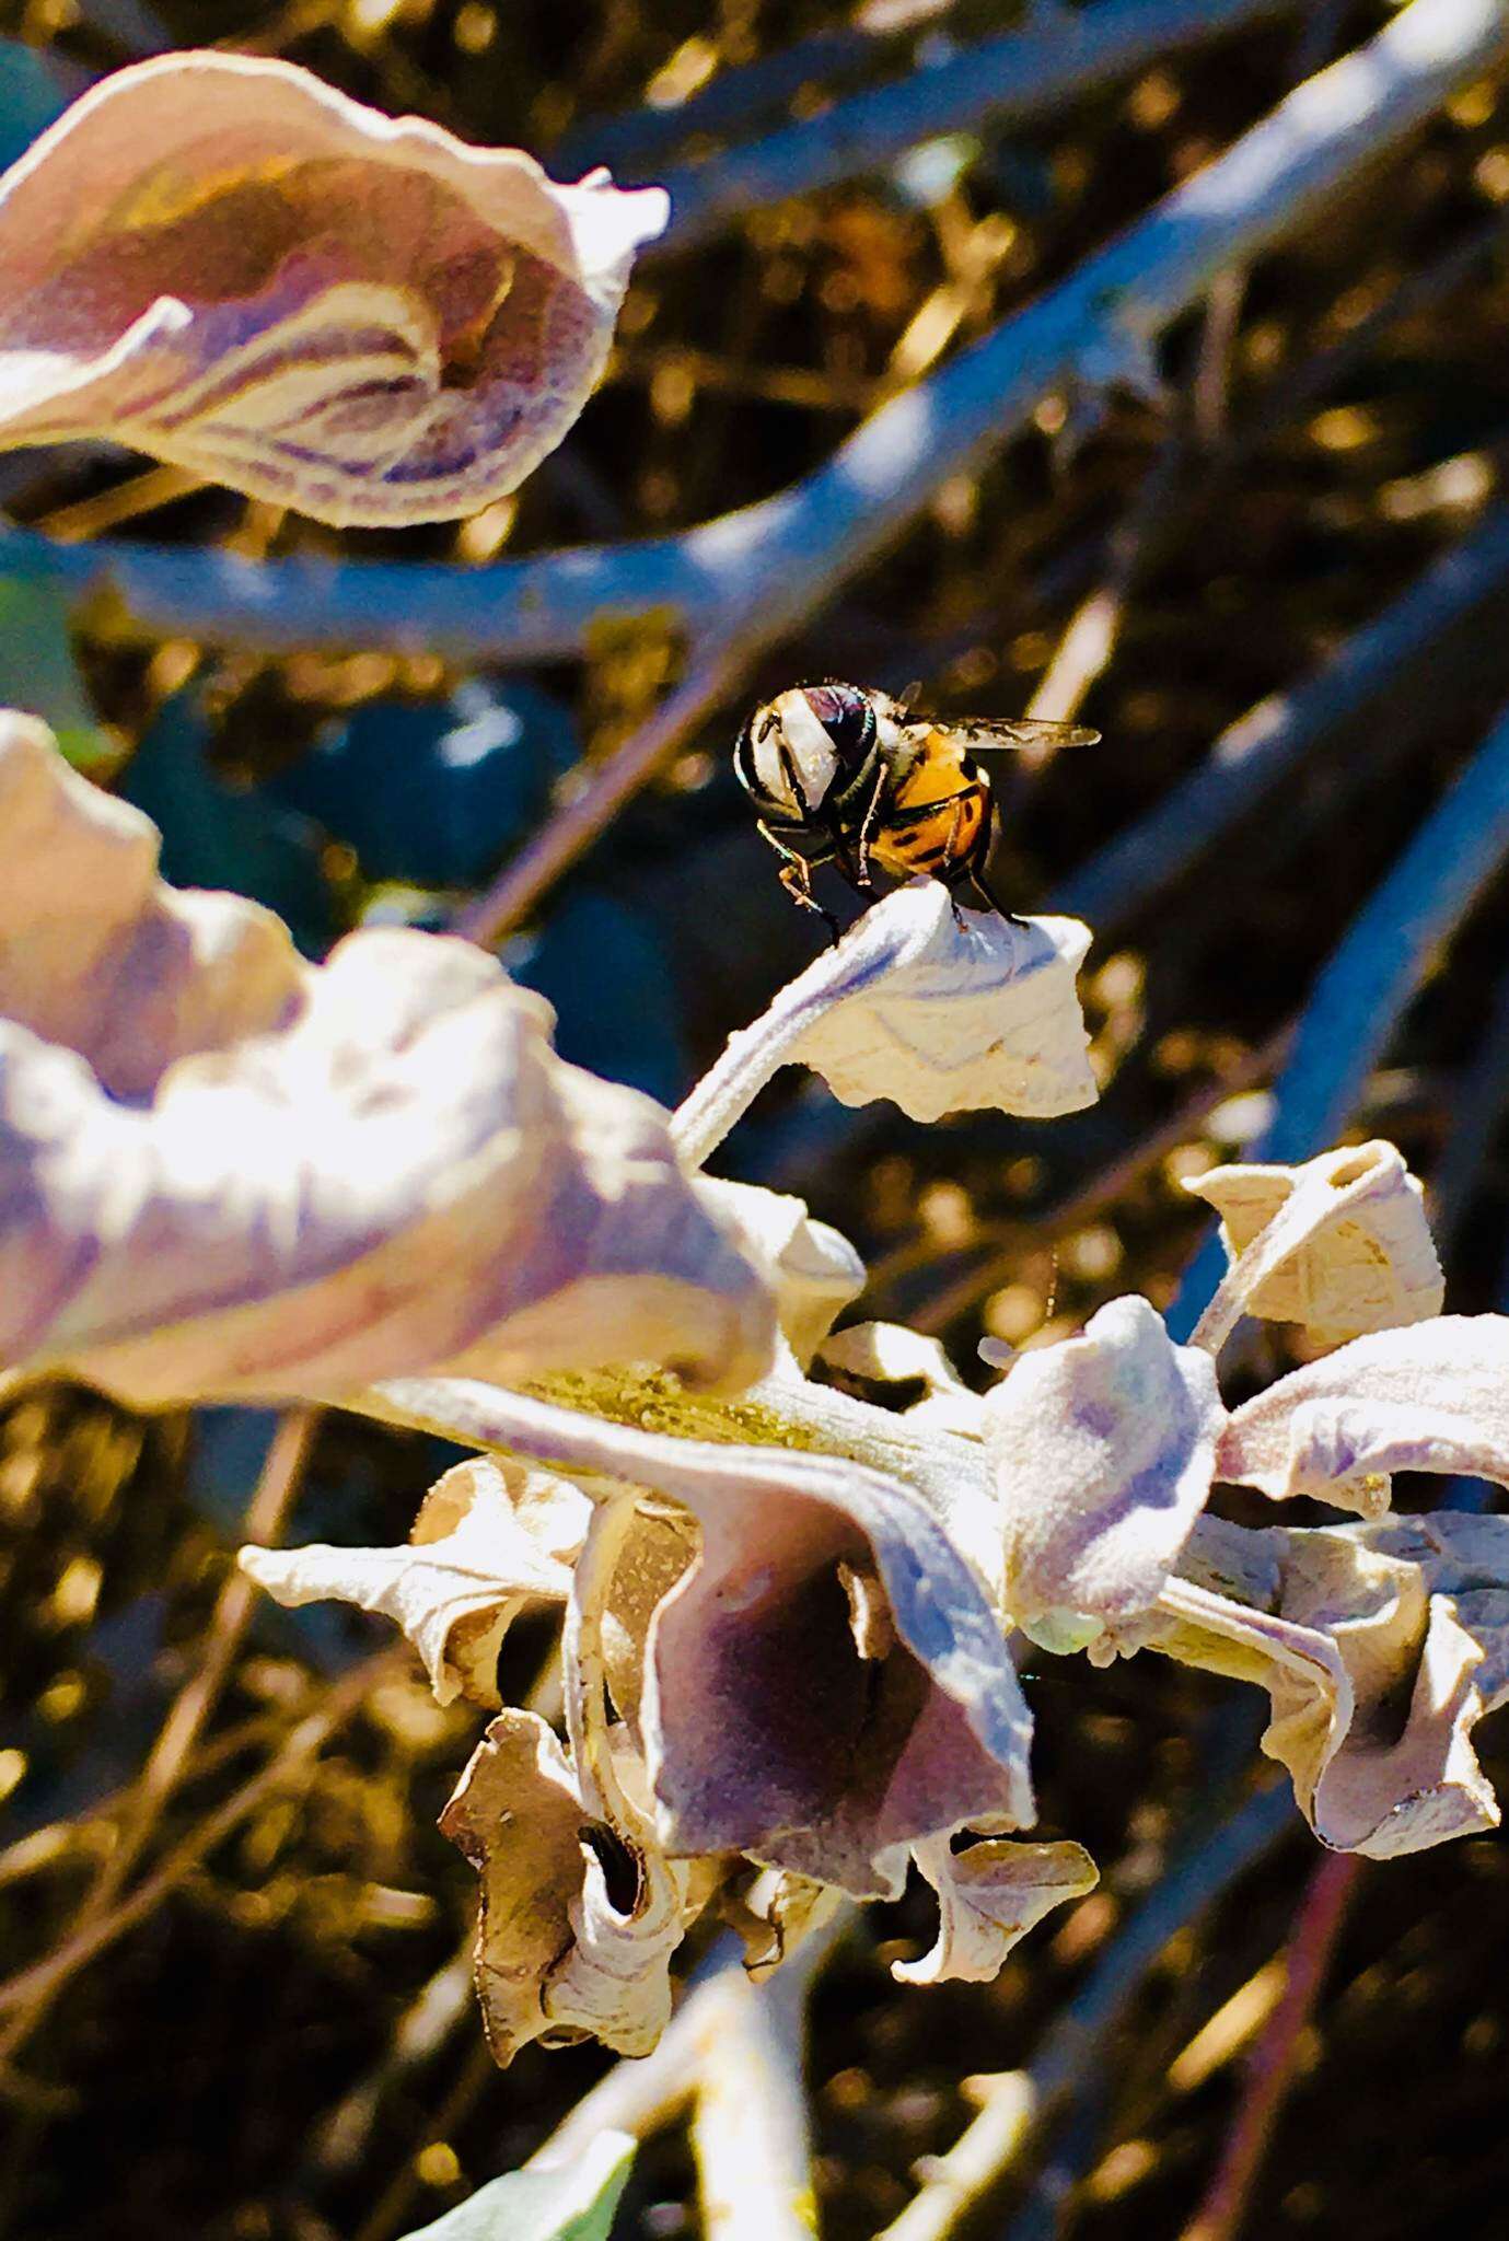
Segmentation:
[(1388, 1508), (1395, 1470), (1509, 1486), (1509, 1318), (1374, 1331), (1233, 1410), (1218, 1472), (1283, 1501)]

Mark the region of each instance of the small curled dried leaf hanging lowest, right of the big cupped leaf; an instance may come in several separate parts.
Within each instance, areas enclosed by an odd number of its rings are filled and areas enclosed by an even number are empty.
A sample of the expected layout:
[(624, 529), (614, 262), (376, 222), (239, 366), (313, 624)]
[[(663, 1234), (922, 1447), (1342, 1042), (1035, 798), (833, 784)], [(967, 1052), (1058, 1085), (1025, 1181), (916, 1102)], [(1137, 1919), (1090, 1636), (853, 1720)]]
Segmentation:
[(937, 1891), (937, 1943), (922, 1961), (892, 1961), (897, 1983), (991, 1983), (1045, 1914), (1101, 1880), (1085, 1847), (1067, 1842), (984, 1838), (955, 1851), (948, 1838), (931, 1838), (913, 1847), (913, 1858)]

